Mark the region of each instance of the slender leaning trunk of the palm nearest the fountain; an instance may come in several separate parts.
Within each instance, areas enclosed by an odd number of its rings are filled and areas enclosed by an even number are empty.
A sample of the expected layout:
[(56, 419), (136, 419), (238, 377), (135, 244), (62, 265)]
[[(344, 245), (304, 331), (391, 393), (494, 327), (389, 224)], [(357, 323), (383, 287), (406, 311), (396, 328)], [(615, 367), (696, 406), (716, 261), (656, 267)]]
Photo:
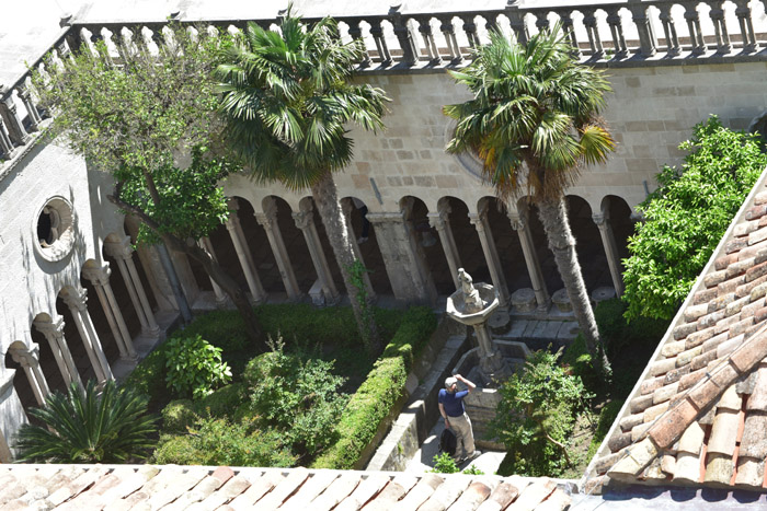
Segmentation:
[(605, 350), (597, 350), (597, 346), (600, 345), (599, 330), (597, 329), (594, 311), (588, 300), (586, 284), (583, 281), (581, 264), (575, 252), (575, 237), (573, 237), (573, 233), (570, 230), (564, 198), (539, 199), (536, 200), (536, 206), (538, 206), (538, 218), (543, 224), (543, 231), (546, 231), (546, 237), (549, 241), (549, 248), (554, 254), (557, 269), (562, 276), (564, 289), (568, 290), (575, 320), (581, 327), (583, 337), (586, 339), (588, 352), (595, 361), (602, 356), (600, 362), (603, 368), (609, 373), (610, 365), (605, 356)]

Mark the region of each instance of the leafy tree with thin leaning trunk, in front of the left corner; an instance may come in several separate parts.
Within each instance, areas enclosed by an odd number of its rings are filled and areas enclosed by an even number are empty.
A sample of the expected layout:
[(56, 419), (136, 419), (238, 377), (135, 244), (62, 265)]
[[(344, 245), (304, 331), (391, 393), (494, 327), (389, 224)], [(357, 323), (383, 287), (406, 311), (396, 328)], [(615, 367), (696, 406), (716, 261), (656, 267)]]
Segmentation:
[(218, 183), (232, 166), (217, 144), (221, 126), (210, 72), (227, 37), (192, 37), (168, 28), (164, 43), (114, 38), (119, 58), (101, 42), (72, 57), (48, 59), (34, 82), (55, 113), (53, 133), (92, 167), (115, 179), (106, 197), (140, 220), (139, 241), (158, 243), (197, 260), (231, 298), (249, 336), (261, 328), (244, 290), (196, 243), (229, 216)]

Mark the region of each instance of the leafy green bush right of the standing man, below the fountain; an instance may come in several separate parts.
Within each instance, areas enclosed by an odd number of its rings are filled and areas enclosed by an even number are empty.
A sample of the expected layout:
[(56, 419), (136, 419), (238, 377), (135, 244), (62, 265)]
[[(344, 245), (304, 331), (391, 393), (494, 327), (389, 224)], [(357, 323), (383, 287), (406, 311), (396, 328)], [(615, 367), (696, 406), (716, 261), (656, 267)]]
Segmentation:
[(499, 391), (491, 430), (513, 454), (515, 474), (557, 477), (570, 464), (565, 444), (592, 395), (579, 376), (558, 365), (560, 352), (531, 353)]

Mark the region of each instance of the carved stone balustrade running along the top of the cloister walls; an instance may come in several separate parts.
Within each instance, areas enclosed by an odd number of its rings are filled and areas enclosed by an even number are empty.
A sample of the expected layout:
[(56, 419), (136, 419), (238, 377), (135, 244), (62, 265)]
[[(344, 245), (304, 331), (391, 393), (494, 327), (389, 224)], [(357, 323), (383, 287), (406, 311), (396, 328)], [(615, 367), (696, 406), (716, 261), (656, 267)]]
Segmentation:
[[(439, 12), (403, 11), (386, 14), (336, 16), (341, 37), (362, 39), (359, 62), (367, 72), (413, 72), (457, 67), (471, 59), (472, 48), (488, 40), (490, 30), (514, 34), (519, 42), (560, 22), (568, 31), (574, 56), (593, 66), (654, 66), (767, 60), (767, 0), (622, 0), (605, 3), (516, 0), (500, 9)], [(371, 8), (374, 10), (374, 8)], [(274, 18), (250, 20), (270, 28)], [(182, 13), (171, 20), (183, 25), (208, 25), (219, 31), (242, 30), (249, 20), (188, 20)], [(316, 19), (306, 18), (311, 23)], [(46, 54), (57, 58), (82, 44), (129, 37), (136, 44), (164, 44), (167, 20), (146, 23), (78, 22), (62, 20), (62, 30)], [(43, 56), (30, 62), (37, 69)], [(46, 113), (30, 94), (30, 72), (0, 86), (0, 162), (12, 159), (34, 138)], [(0, 163), (0, 169), (2, 163)]]

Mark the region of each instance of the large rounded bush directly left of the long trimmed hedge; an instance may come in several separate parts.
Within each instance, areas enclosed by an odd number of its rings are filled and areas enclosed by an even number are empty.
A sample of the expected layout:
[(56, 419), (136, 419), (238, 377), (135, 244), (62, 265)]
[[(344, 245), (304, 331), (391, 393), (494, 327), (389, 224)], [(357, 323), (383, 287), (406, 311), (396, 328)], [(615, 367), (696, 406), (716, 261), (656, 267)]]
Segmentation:
[(332, 362), (286, 353), (282, 339), (248, 363), (243, 381), (260, 423), (281, 431), (300, 455), (316, 456), (336, 439), (335, 423), (348, 396)]

